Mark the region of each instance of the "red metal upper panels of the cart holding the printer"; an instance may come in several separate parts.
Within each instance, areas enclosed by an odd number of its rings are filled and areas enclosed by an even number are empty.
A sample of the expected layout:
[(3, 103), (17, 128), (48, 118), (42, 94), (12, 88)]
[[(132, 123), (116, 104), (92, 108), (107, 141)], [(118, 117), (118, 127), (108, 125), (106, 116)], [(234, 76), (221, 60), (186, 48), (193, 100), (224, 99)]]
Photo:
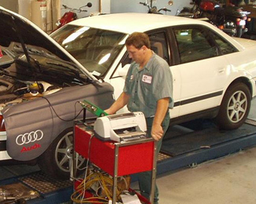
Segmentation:
[[(84, 126), (83, 126), (84, 127)], [(75, 151), (113, 176), (115, 165), (115, 148), (113, 141), (103, 141), (80, 126), (75, 126)], [(89, 149), (90, 144), (90, 149)], [(154, 141), (119, 147), (117, 176), (150, 171), (154, 166)]]

